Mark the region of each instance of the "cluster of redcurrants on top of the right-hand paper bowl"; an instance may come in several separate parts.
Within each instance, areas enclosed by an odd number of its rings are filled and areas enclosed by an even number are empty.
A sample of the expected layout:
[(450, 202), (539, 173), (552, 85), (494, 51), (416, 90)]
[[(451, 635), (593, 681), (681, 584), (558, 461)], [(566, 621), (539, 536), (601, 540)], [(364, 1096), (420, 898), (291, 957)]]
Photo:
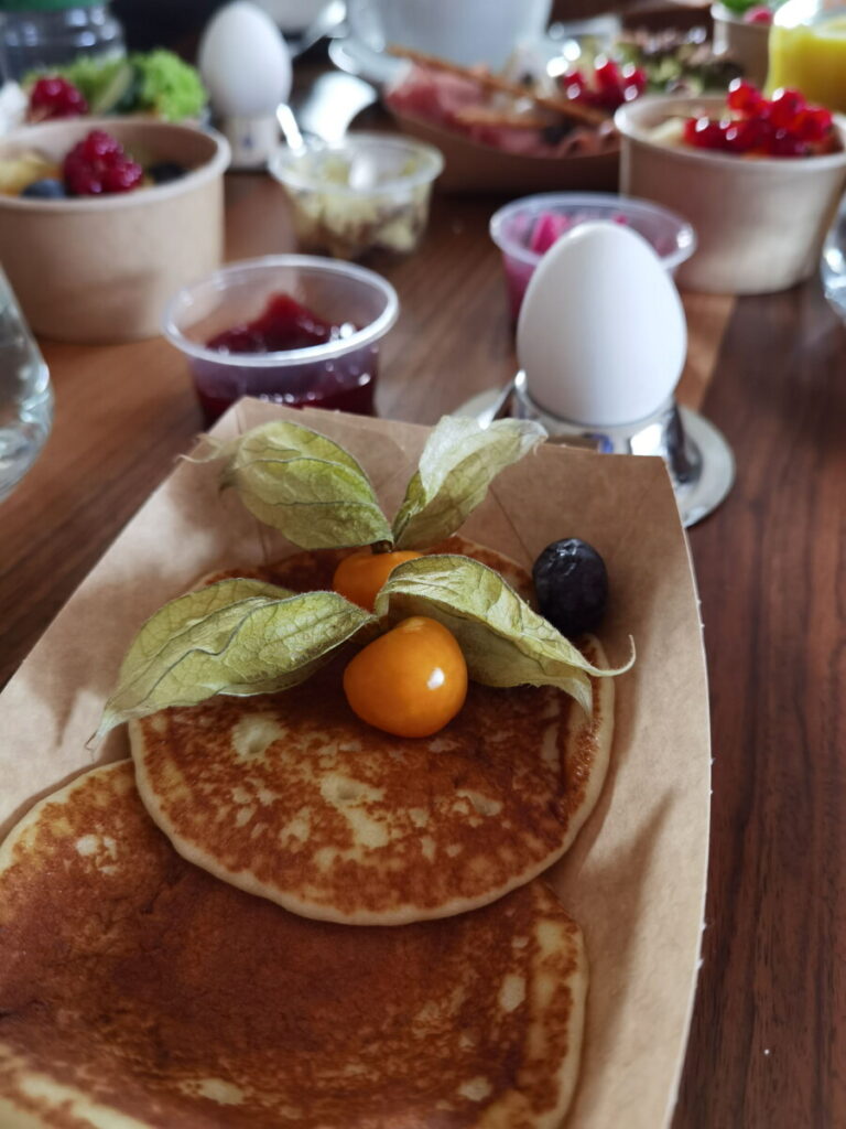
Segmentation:
[(779, 89), (767, 100), (746, 79), (734, 79), (726, 97), (728, 115), (688, 117), (685, 145), (742, 157), (814, 157), (840, 149), (834, 119), (809, 106), (799, 90)]

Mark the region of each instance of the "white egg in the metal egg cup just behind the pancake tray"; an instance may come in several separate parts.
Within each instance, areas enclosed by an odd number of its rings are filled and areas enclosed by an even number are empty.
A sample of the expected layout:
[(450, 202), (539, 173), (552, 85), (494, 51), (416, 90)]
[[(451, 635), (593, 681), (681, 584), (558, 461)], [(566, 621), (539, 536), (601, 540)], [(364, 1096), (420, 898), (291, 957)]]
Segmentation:
[(581, 224), (531, 277), (517, 353), (530, 397), (552, 415), (589, 427), (632, 423), (678, 383), (685, 309), (643, 236), (620, 224)]

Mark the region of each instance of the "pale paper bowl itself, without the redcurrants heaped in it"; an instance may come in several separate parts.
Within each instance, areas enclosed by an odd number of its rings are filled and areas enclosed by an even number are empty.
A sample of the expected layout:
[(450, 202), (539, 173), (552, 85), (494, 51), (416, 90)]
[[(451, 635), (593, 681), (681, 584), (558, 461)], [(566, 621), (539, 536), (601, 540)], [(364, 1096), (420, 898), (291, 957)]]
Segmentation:
[[(724, 97), (650, 96), (622, 106), (620, 191), (653, 200), (696, 229), (676, 281), (716, 294), (772, 294), (810, 278), (846, 185), (846, 150), (822, 157), (744, 158), (662, 145), (671, 117), (719, 117)], [(846, 120), (836, 117), (841, 146)]]

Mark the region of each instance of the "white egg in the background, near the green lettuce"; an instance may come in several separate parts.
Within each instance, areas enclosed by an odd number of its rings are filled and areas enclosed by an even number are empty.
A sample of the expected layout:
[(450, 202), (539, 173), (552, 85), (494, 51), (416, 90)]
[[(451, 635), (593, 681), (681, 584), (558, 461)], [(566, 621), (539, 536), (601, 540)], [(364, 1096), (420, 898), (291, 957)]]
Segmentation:
[(218, 114), (273, 114), (291, 93), (291, 55), (280, 29), (250, 0), (235, 0), (209, 21), (197, 65)]

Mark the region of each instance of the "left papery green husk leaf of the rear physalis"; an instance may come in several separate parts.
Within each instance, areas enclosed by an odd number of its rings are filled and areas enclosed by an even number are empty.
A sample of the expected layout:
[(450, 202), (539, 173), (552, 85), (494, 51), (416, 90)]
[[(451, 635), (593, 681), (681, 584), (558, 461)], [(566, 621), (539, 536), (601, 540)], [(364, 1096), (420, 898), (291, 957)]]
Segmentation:
[(301, 549), (390, 542), (391, 531), (358, 462), (332, 439), (285, 420), (263, 423), (220, 452), (221, 485), (259, 522)]

